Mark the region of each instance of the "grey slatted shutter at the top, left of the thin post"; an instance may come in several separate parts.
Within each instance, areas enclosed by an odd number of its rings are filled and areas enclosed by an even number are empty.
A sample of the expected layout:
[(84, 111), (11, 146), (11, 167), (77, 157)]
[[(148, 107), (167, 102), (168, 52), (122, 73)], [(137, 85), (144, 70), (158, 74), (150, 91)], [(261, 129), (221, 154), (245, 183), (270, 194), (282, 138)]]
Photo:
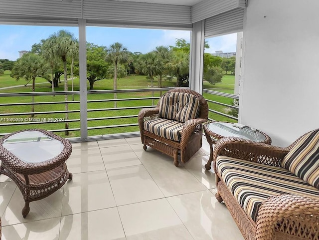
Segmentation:
[(2, 13), (81, 18), (82, 3), (81, 0), (0, 0), (0, 15)]

